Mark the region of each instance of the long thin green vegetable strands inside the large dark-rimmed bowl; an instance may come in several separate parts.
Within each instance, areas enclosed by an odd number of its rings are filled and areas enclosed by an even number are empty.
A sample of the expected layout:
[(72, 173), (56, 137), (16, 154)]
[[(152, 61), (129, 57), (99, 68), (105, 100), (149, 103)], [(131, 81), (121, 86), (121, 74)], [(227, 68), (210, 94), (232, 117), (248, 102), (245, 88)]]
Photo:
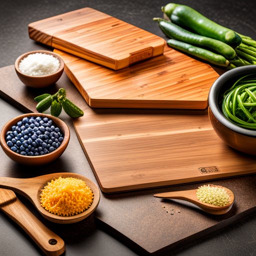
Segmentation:
[(238, 79), (225, 91), (222, 112), (232, 123), (256, 130), (256, 74)]

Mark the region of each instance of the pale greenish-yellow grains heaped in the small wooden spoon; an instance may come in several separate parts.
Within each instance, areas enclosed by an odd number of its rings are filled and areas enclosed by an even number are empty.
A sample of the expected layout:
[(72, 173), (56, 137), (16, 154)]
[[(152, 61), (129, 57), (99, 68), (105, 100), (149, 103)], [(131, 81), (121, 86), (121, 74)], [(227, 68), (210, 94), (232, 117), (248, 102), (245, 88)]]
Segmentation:
[(230, 202), (230, 197), (223, 187), (203, 185), (196, 191), (197, 199), (215, 206), (224, 206)]

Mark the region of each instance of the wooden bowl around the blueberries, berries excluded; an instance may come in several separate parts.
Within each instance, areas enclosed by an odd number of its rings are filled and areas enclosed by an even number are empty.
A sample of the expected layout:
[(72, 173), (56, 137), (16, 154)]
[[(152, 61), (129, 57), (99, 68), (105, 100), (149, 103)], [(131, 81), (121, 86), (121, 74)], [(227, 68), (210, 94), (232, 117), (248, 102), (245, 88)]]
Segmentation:
[[(18, 121), (21, 121), (24, 117), (29, 117), (29, 116), (48, 117), (59, 127), (64, 137), (58, 148), (56, 148), (54, 151), (50, 153), (37, 155), (37, 156), (21, 155), (10, 150), (10, 148), (7, 146), (5, 141), (6, 132), (11, 129), (12, 125), (16, 124)], [(70, 132), (69, 132), (68, 126), (66, 125), (65, 122), (63, 122), (58, 117), (52, 116), (50, 114), (43, 114), (43, 113), (28, 113), (28, 114), (19, 115), (4, 124), (0, 132), (0, 145), (4, 153), (7, 154), (15, 162), (25, 164), (25, 165), (43, 165), (57, 159), (64, 152), (69, 142), (69, 137), (70, 137)]]

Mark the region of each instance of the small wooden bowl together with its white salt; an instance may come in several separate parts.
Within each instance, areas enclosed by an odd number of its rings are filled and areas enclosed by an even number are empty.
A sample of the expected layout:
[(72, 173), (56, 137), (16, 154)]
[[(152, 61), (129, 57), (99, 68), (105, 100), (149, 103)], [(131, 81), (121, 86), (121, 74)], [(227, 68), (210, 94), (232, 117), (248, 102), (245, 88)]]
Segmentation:
[(54, 52), (34, 50), (19, 56), (14, 66), (18, 78), (25, 85), (42, 88), (60, 78), (64, 70), (64, 61)]

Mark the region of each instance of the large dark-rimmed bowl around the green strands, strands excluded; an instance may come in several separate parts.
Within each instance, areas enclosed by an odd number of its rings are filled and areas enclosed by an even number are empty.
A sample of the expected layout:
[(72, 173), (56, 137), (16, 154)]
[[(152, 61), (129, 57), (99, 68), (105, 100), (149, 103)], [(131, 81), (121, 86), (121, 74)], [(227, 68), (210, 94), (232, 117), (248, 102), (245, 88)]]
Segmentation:
[(256, 155), (256, 131), (242, 128), (230, 122), (221, 111), (223, 93), (246, 74), (256, 73), (256, 65), (241, 66), (220, 75), (212, 84), (208, 96), (208, 113), (217, 135), (229, 146)]

